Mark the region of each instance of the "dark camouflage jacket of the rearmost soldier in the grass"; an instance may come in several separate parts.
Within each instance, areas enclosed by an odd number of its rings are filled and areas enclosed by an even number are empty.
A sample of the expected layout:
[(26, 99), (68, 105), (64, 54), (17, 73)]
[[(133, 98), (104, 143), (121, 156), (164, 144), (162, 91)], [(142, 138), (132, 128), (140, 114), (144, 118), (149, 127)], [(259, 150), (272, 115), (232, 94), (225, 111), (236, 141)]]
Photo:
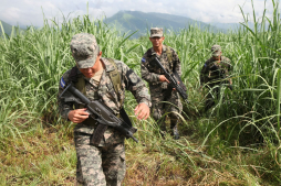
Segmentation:
[(205, 62), (200, 72), (200, 85), (209, 83), (209, 86), (220, 84), (220, 79), (229, 76), (229, 72), (232, 69), (229, 58), (221, 56), (220, 63), (212, 57)]

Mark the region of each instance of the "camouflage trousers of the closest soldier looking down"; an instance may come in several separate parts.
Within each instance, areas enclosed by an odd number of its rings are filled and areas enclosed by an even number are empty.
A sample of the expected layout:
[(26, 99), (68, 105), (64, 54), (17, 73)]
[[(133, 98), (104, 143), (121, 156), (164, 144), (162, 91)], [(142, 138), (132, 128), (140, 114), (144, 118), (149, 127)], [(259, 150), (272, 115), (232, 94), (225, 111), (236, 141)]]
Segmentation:
[(90, 139), (91, 134), (74, 132), (77, 185), (121, 186), (126, 172), (124, 142), (94, 146)]

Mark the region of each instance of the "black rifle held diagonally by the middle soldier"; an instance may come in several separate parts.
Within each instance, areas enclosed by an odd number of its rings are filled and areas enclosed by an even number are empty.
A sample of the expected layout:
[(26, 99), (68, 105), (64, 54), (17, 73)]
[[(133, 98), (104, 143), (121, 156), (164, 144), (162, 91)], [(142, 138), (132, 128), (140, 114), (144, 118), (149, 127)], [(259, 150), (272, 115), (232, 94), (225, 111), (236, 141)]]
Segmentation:
[[(173, 72), (173, 74), (170, 75), (162, 65), (162, 63), (159, 62), (158, 57), (155, 56), (156, 64), (162, 68), (162, 70), (164, 72), (164, 76), (169, 80), (169, 85), (175, 88), (178, 94), (180, 95), (180, 97), (184, 99), (184, 101), (186, 103), (189, 103), (189, 101), (187, 100), (188, 96), (186, 94), (186, 86), (184, 85), (184, 83), (181, 81), (179, 75), (177, 74), (176, 70)], [(176, 77), (176, 78), (175, 78)], [(179, 81), (179, 84), (178, 84)]]

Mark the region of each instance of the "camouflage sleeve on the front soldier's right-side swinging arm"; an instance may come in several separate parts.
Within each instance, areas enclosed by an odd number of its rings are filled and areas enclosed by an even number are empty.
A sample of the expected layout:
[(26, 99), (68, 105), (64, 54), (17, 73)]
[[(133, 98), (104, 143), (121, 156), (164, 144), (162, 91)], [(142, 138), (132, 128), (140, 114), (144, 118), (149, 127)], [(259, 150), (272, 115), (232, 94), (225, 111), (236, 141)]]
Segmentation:
[(123, 80), (126, 85), (126, 89), (129, 90), (138, 103), (146, 103), (152, 107), (150, 95), (145, 86), (145, 83), (126, 64), (122, 63)]

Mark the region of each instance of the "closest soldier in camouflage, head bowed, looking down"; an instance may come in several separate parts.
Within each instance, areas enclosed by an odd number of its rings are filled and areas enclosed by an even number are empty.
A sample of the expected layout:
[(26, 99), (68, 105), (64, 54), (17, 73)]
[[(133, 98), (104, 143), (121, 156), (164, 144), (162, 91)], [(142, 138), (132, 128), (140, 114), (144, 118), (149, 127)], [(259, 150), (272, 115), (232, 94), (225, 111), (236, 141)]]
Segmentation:
[[(85, 96), (90, 100), (103, 100), (103, 102), (118, 116), (125, 98), (125, 90), (129, 90), (139, 103), (135, 108), (137, 119), (149, 117), (150, 96), (144, 81), (123, 62), (102, 57), (95, 36), (80, 33), (71, 41), (72, 56), (76, 62), (76, 76), (82, 79)], [(115, 66), (115, 65), (116, 66)], [(110, 77), (111, 72), (117, 67), (121, 75), (121, 91), (114, 90)], [(59, 96), (63, 91), (62, 84), (69, 84), (72, 78), (72, 69), (63, 74), (59, 88)], [(75, 85), (77, 89), (80, 85)], [(62, 118), (77, 123), (74, 128), (74, 142), (76, 149), (76, 182), (86, 186), (119, 186), (125, 176), (125, 147), (124, 135), (112, 127), (103, 134), (98, 145), (90, 144), (96, 121), (89, 118), (86, 109), (66, 99), (58, 100)], [(73, 109), (75, 107), (75, 109)], [(91, 120), (92, 119), (92, 120)]]

